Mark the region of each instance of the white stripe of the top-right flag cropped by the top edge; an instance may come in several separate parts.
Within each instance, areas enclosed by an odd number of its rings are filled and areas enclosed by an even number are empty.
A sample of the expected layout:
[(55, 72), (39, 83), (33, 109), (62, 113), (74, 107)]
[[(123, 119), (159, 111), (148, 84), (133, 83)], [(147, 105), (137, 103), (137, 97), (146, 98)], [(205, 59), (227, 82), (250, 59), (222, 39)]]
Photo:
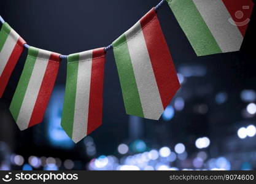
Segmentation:
[(221, 0), (193, 0), (222, 52), (239, 50), (242, 34), (228, 19), (231, 17)]

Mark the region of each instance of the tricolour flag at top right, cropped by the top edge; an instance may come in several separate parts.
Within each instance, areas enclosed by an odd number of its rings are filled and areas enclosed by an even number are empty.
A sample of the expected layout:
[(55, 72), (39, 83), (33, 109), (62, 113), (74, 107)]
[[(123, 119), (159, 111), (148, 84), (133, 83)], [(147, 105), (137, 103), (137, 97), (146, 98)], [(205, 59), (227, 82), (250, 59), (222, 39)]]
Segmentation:
[(196, 55), (240, 50), (252, 0), (167, 0)]

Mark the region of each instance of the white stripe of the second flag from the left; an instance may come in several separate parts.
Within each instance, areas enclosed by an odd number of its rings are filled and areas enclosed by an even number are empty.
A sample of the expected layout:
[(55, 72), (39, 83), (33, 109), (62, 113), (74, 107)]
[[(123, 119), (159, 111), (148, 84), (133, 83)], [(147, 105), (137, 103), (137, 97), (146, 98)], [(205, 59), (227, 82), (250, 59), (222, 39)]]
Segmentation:
[[(48, 58), (46, 58), (47, 55)], [(17, 118), (17, 125), (21, 130), (28, 128), (31, 115), (34, 110), (34, 105), (36, 104), (37, 96), (41, 88), (42, 80), (44, 79), (49, 58), (50, 52), (45, 50), (39, 51)]]

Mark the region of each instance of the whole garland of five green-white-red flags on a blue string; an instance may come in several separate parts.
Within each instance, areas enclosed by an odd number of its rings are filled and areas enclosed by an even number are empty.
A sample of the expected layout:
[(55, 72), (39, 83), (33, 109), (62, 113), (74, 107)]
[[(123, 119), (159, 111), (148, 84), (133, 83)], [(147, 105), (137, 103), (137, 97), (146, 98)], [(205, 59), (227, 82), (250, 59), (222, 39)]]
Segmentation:
[[(104, 64), (110, 48), (126, 113), (158, 120), (180, 88), (157, 17), (165, 1), (198, 56), (238, 51), (254, 7), (251, 0), (162, 0), (108, 47), (69, 56), (30, 47), (0, 17), (0, 98), (23, 47), (29, 48), (10, 104), (18, 128), (22, 131), (42, 122), (64, 58), (68, 67), (61, 126), (76, 143), (101, 126)], [(242, 15), (247, 19), (238, 21)]]

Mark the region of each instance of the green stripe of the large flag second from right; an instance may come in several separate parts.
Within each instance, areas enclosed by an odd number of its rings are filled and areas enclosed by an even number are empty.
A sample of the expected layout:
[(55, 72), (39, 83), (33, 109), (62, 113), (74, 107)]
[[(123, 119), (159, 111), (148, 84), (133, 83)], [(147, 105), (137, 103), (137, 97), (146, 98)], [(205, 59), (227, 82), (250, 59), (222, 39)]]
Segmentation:
[(126, 112), (144, 117), (125, 34), (115, 40), (113, 46)]

